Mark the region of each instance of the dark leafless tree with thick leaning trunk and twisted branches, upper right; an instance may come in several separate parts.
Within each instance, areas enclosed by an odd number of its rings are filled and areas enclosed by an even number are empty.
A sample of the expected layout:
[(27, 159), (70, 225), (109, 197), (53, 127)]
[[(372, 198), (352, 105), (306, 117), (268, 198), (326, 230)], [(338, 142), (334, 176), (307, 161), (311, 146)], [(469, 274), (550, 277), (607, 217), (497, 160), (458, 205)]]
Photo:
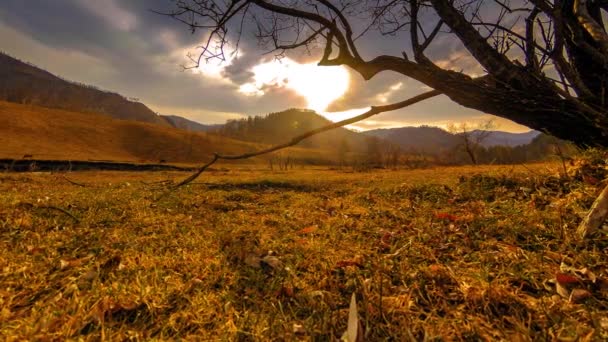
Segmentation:
[[(319, 65), (371, 79), (384, 71), (453, 101), (582, 146), (608, 146), (607, 0), (176, 0), (167, 13), (205, 30), (198, 64), (238, 51), (245, 31), (277, 55), (322, 47)], [(361, 39), (398, 35), (400, 56), (364, 56)], [(426, 52), (460, 41), (483, 76), (442, 67)], [(228, 47), (231, 48), (227, 51)]]

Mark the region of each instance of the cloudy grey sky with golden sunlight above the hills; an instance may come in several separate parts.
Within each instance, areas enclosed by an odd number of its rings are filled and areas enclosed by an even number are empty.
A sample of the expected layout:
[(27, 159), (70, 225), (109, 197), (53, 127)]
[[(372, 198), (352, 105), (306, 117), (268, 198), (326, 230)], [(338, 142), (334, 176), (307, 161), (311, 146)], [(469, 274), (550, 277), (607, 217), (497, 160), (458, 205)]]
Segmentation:
[[(370, 81), (344, 67), (320, 67), (303, 51), (277, 60), (245, 34), (236, 58), (200, 68), (197, 55), (205, 33), (192, 34), (169, 17), (169, 0), (2, 0), (0, 50), (65, 79), (137, 98), (160, 114), (204, 123), (223, 123), (288, 108), (311, 108), (330, 120), (365, 111), (371, 105), (401, 101), (428, 91), (425, 85), (395, 73)], [(364, 55), (398, 53), (395, 37), (362, 41)], [(443, 39), (443, 40), (442, 40)], [(439, 37), (429, 54), (440, 66), (471, 64), (449, 37)], [(470, 66), (475, 72), (475, 65)], [(494, 120), (499, 130), (529, 129), (459, 106), (445, 96), (380, 114), (351, 128), (401, 126), (472, 126)]]

